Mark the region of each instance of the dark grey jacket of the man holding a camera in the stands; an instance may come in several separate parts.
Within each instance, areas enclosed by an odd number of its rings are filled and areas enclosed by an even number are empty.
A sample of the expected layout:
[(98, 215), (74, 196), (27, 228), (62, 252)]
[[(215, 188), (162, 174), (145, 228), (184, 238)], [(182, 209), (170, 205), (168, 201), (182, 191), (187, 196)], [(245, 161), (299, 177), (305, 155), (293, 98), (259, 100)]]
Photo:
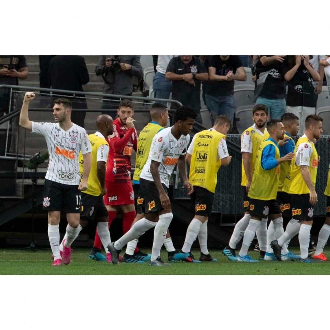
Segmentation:
[(106, 68), (105, 60), (116, 55), (102, 55), (95, 67), (97, 76), (104, 75), (105, 82), (103, 93), (128, 95), (133, 92), (132, 77), (142, 78), (143, 71), (139, 55), (119, 55), (120, 63), (127, 63), (132, 66), (131, 70), (114, 70)]

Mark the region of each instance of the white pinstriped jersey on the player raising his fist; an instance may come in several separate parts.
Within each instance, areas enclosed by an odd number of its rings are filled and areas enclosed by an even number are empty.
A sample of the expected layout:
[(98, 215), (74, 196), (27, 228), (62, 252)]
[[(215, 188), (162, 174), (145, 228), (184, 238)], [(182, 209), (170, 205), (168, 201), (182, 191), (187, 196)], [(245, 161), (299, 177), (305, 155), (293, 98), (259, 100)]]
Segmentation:
[(78, 185), (79, 151), (82, 154), (91, 152), (88, 135), (84, 128), (73, 124), (64, 131), (58, 123), (39, 123), (32, 121), (32, 133), (45, 137), (49, 164), (45, 179), (68, 185)]

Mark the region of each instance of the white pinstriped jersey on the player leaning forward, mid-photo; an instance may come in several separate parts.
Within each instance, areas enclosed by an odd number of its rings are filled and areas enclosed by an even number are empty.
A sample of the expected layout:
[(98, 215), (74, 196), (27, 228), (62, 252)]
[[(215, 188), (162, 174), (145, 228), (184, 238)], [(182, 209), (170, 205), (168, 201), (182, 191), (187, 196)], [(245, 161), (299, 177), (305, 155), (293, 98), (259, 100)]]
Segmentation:
[[(172, 126), (173, 127), (173, 126)], [(151, 160), (160, 162), (158, 167), (160, 181), (169, 187), (173, 169), (181, 155), (186, 153), (190, 136), (181, 135), (177, 140), (171, 133), (172, 127), (167, 127), (158, 132), (151, 143), (148, 160), (142, 169), (140, 178), (153, 181), (150, 172)]]

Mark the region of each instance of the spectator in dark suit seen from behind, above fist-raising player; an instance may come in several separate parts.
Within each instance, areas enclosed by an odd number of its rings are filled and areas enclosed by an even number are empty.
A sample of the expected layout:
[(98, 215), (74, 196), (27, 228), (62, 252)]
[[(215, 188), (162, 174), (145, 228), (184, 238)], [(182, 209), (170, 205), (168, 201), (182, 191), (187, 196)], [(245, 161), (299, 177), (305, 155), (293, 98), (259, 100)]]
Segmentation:
[[(58, 55), (49, 62), (49, 83), (53, 89), (65, 89), (83, 92), (82, 85), (89, 82), (88, 70), (82, 56)], [(57, 93), (58, 94), (58, 93)], [(65, 96), (74, 94), (61, 93)], [(77, 97), (70, 98), (73, 110), (87, 109), (87, 103), (83, 94), (76, 94)], [(84, 127), (85, 111), (73, 111), (71, 120)]]

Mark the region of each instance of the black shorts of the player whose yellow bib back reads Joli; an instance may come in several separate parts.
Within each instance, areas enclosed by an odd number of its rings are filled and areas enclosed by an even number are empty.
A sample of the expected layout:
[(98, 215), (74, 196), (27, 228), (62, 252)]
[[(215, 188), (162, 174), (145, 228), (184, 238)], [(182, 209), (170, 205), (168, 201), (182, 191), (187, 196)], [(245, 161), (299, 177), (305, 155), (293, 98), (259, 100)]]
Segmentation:
[(191, 206), (195, 215), (211, 216), (213, 197), (214, 192), (200, 186), (194, 186), (194, 191), (191, 194)]

